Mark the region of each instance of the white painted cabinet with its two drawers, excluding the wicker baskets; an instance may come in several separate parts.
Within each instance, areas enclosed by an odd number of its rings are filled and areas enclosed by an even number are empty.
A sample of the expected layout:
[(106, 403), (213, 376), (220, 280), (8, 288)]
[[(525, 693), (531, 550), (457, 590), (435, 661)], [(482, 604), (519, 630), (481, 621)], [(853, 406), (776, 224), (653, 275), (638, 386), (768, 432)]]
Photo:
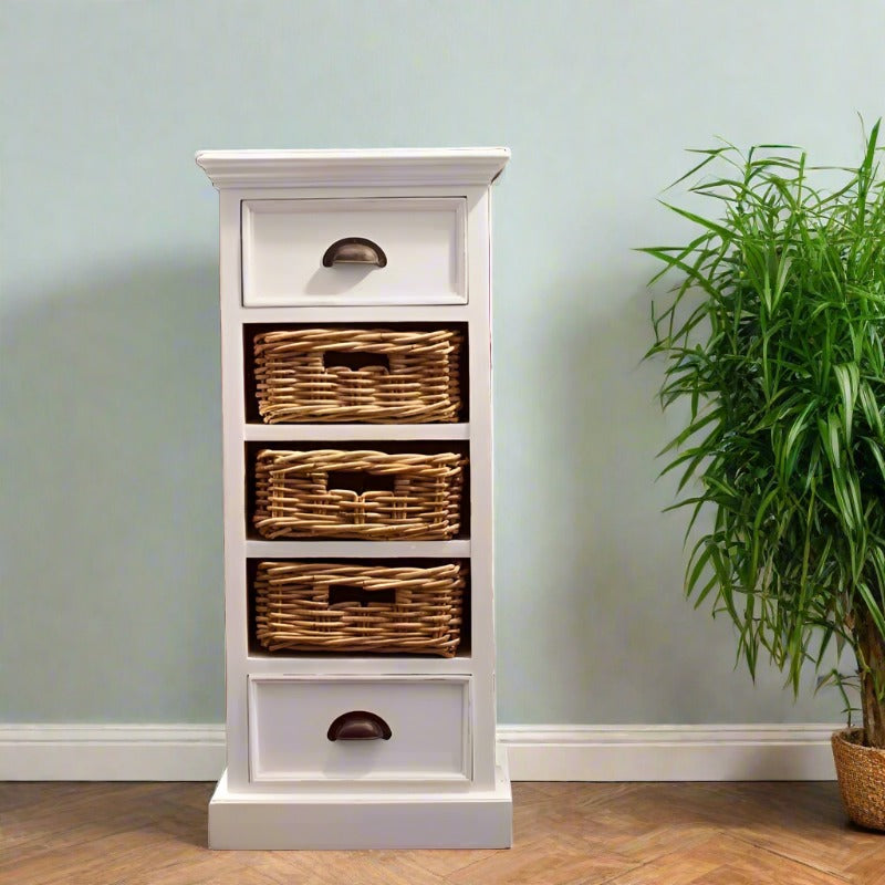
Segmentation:
[[(212, 847), (510, 844), (494, 737), (490, 350), (490, 188), (508, 157), (504, 148), (197, 155), (220, 196), (228, 762), (209, 806)], [(363, 250), (357, 263), (352, 249)], [(459, 420), (262, 423), (250, 388), (253, 334), (346, 324), (462, 330)], [(469, 458), (467, 518), (454, 540), (263, 540), (251, 529), (256, 447), (439, 442)], [(269, 654), (254, 641), (250, 595), (253, 564), (268, 559), (464, 562), (460, 645), (452, 657)], [(375, 739), (347, 739), (366, 729)]]

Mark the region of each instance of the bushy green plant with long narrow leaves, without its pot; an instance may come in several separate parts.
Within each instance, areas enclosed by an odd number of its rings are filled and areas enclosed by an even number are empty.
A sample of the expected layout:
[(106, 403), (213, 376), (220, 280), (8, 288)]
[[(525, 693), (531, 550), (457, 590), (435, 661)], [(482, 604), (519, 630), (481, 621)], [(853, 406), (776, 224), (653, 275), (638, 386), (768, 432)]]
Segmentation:
[[(660, 452), (663, 473), (681, 471), (674, 507), (693, 511), (686, 593), (731, 617), (753, 677), (767, 653), (795, 693), (809, 662), (848, 710), (857, 687), (865, 740), (885, 748), (878, 133), (852, 168), (811, 167), (789, 145), (697, 152), (679, 181), (715, 218), (665, 202), (696, 236), (641, 251), (664, 262), (653, 283), (679, 275), (653, 308), (648, 355), (666, 360), (663, 408), (689, 415)], [(833, 645), (854, 652), (855, 674), (825, 671)]]

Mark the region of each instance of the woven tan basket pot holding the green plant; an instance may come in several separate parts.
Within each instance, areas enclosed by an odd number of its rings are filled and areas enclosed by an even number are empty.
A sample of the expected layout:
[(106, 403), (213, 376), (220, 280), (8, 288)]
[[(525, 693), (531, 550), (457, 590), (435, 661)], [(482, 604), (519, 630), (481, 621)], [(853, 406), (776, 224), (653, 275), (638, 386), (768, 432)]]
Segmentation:
[(863, 746), (862, 728), (832, 737), (839, 791), (848, 818), (860, 826), (885, 831), (885, 750)]

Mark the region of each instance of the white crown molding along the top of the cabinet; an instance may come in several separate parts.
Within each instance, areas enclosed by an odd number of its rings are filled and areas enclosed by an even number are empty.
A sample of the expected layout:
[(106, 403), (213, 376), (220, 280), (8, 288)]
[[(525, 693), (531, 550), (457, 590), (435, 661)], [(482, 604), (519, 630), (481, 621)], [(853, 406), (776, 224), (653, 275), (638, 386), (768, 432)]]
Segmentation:
[(197, 165), (219, 189), (489, 185), (508, 159), (507, 147), (198, 150), (196, 155)]

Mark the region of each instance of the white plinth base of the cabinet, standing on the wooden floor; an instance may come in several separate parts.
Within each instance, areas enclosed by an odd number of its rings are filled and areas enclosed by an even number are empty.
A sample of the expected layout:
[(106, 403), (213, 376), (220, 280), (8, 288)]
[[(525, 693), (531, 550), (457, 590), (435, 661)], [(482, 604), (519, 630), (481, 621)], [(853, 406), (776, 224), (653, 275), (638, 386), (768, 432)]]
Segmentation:
[(500, 768), (488, 792), (414, 795), (232, 793), (225, 772), (209, 803), (209, 847), (509, 848), (512, 812)]

